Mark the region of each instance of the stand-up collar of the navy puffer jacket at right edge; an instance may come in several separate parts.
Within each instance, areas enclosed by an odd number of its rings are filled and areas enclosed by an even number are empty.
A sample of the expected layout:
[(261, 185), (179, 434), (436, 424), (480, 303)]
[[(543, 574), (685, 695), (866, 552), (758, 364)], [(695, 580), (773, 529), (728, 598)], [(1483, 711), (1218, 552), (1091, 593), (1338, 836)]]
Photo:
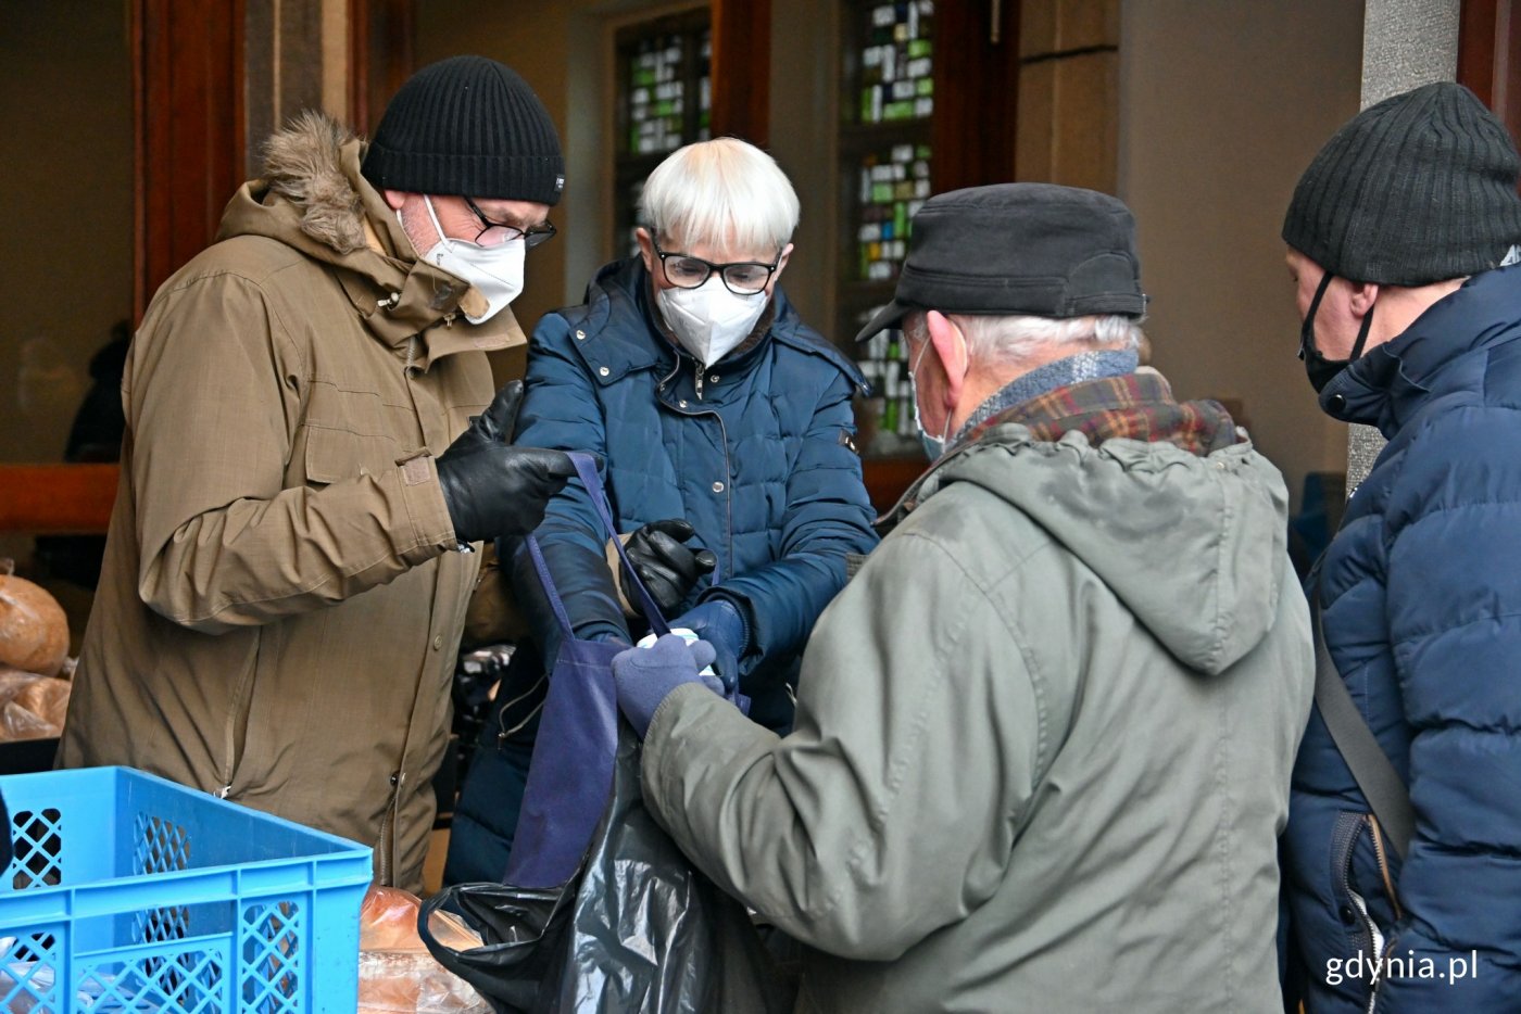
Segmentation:
[(1477, 389), (1488, 353), (1521, 339), (1521, 265), (1474, 275), (1434, 303), (1404, 334), (1373, 348), (1320, 392), (1320, 407), (1343, 423), (1377, 426), (1393, 438), (1436, 391)]

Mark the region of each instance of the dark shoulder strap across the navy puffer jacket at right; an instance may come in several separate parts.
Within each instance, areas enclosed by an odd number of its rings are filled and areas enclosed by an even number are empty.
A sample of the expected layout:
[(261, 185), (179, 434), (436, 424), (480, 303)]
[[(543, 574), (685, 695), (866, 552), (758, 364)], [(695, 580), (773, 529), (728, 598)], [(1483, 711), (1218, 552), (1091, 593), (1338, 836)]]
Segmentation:
[(1416, 812), (1410, 806), (1410, 791), (1395, 771), (1395, 765), (1389, 762), (1389, 754), (1378, 745), (1373, 730), (1352, 702), (1346, 681), (1331, 661), (1331, 649), (1326, 648), (1325, 632), (1320, 629), (1319, 573), (1310, 600), (1310, 616), (1316, 635), (1316, 707), (1320, 708), (1320, 718), (1325, 719), (1335, 748), (1352, 769), (1357, 787), (1373, 809), (1389, 844), (1404, 859), (1416, 833)]

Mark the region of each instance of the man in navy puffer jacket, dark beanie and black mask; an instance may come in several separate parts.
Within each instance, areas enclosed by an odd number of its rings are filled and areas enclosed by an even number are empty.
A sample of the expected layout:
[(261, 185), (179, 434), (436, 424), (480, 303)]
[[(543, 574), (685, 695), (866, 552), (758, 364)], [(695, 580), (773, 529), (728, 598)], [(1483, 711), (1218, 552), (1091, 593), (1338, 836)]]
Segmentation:
[(1320, 407), (1389, 441), (1308, 581), (1331, 664), (1284, 856), (1311, 1014), (1521, 996), (1518, 173), (1433, 84), (1343, 126), (1284, 216)]

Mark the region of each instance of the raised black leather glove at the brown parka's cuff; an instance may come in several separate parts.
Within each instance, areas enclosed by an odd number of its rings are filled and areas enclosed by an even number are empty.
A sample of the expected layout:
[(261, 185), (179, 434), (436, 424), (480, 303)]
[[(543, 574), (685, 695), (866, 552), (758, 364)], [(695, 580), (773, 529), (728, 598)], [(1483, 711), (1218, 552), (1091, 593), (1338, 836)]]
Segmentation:
[(522, 401), (523, 382), (514, 380), (438, 456), (438, 485), (461, 543), (534, 531), (549, 497), (575, 474), (564, 452), (508, 442)]

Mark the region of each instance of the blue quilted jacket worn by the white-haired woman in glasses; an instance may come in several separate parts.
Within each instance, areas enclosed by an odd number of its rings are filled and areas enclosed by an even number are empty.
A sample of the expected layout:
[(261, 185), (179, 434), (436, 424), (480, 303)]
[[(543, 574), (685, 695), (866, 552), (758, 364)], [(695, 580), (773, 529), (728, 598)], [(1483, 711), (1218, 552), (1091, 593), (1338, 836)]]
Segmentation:
[[(782, 684), (795, 681), (814, 622), (844, 587), (846, 553), (870, 552), (878, 537), (850, 441), (861, 372), (780, 289), (773, 303), (759, 342), (700, 369), (656, 328), (643, 261), (607, 265), (583, 306), (534, 330), (517, 442), (601, 455), (625, 534), (669, 517), (697, 529), (718, 555), (719, 593), (748, 607), (741, 686), (751, 718), (779, 727), (791, 721)], [(561, 585), (587, 578), (567, 566), (605, 573), (605, 537), (580, 480), (537, 535)], [(686, 605), (713, 593), (704, 579)]]

